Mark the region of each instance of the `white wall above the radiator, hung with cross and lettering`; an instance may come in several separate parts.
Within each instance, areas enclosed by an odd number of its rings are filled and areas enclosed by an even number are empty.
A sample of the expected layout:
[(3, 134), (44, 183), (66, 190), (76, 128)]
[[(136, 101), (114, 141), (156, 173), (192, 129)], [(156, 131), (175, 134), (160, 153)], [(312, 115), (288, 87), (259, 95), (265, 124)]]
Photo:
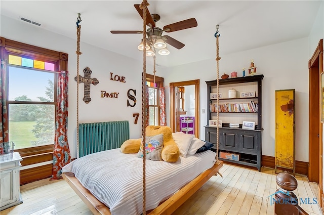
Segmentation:
[[(1, 16), (1, 36), (24, 42), (26, 44), (47, 48), (69, 54), (69, 119), (68, 143), (71, 157), (76, 157), (76, 36), (71, 39), (40, 27)], [(81, 32), (82, 38), (82, 32)], [(130, 137), (141, 137), (142, 117), (134, 124), (133, 113), (142, 115), (142, 71), (143, 63), (134, 59), (112, 53), (84, 42), (80, 43), (79, 74), (84, 76), (83, 70), (90, 67), (91, 77), (99, 80), (97, 85), (91, 85), (91, 102), (86, 104), (84, 97), (84, 84), (79, 84), (79, 123), (96, 121), (129, 120)], [(140, 53), (139, 53), (140, 54)], [(147, 71), (153, 71), (148, 65)], [(114, 75), (125, 76), (126, 83), (110, 80), (110, 72)], [(127, 107), (127, 91), (136, 90), (138, 100), (135, 107)], [(119, 93), (116, 98), (101, 98), (101, 91)], [(133, 104), (132, 101), (130, 101)]]

